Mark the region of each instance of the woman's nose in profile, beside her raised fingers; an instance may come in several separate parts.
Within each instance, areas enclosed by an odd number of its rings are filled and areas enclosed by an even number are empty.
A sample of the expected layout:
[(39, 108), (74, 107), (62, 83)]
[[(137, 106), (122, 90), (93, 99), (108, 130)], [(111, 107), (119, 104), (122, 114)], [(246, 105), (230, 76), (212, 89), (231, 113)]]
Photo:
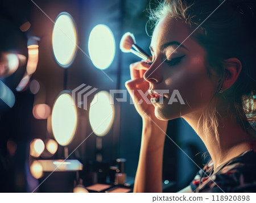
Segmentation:
[(152, 62), (151, 66), (144, 73), (143, 78), (150, 83), (159, 83), (162, 81), (162, 74), (160, 73), (161, 64), (156, 60)]

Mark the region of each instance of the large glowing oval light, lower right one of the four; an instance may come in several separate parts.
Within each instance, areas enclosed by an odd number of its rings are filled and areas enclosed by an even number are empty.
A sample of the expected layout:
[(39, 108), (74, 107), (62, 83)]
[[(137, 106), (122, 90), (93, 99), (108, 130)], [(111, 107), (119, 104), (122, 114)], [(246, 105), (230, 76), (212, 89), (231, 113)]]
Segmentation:
[(100, 91), (90, 104), (89, 121), (93, 132), (97, 136), (105, 136), (114, 121), (114, 105), (113, 98), (109, 92)]

